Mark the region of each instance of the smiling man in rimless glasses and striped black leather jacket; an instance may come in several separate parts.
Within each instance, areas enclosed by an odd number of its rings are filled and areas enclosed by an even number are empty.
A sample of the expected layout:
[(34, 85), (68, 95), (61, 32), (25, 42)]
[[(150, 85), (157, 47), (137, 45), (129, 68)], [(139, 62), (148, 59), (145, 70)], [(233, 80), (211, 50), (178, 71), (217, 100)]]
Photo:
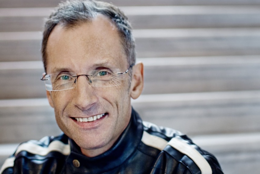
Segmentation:
[(217, 159), (176, 130), (142, 122), (131, 107), (143, 64), (125, 15), (95, 1), (59, 5), (46, 21), (47, 98), (63, 133), (28, 141), (6, 173), (221, 174)]

